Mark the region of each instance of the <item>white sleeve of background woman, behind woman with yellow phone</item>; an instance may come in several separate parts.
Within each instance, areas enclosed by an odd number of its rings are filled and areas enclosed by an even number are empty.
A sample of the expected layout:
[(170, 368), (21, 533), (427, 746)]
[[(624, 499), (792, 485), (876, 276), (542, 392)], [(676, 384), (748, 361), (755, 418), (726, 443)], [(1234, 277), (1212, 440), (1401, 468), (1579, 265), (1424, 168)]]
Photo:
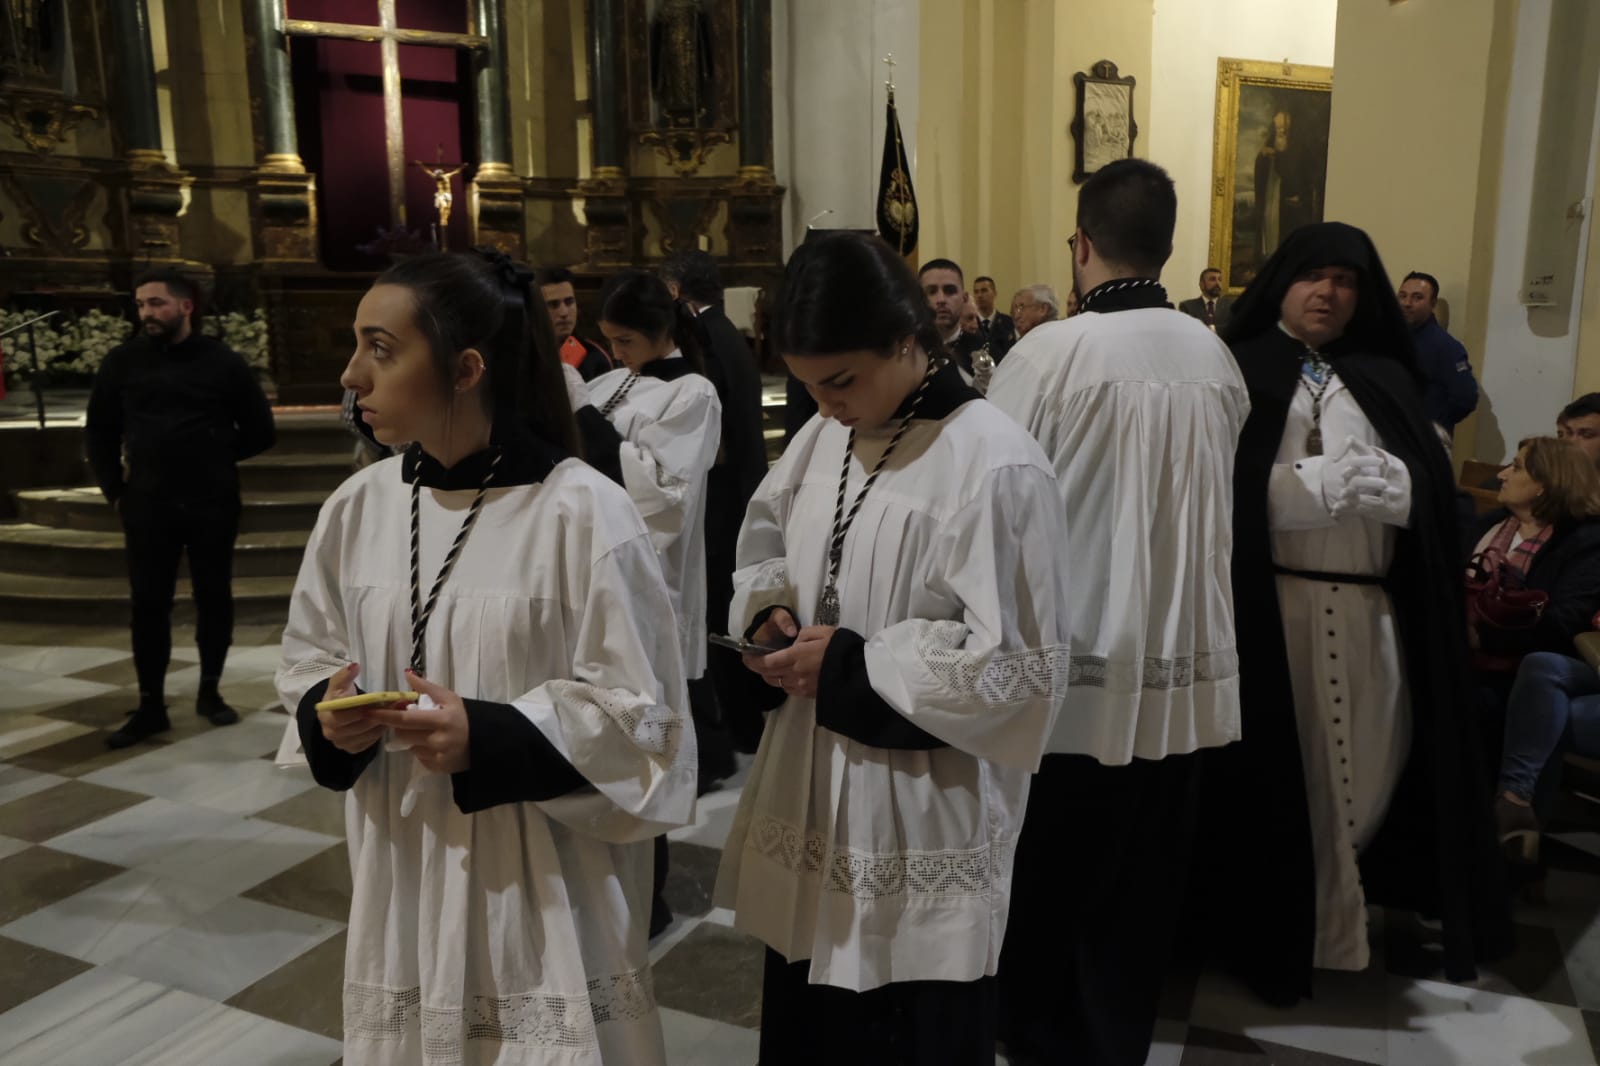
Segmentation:
[(682, 535), (688, 493), (717, 461), (720, 443), (722, 402), (709, 383), (706, 389), (680, 387), (661, 418), (640, 419), (638, 429), (622, 439), (622, 485), (656, 551), (666, 551)]

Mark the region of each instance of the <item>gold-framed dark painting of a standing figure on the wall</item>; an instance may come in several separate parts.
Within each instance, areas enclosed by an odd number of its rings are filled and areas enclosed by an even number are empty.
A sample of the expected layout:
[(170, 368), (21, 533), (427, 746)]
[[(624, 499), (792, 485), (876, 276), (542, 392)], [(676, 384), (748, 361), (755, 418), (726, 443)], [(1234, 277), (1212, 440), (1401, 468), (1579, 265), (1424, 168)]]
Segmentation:
[(1328, 182), (1333, 67), (1216, 61), (1211, 253), (1243, 291), (1293, 229), (1320, 222)]

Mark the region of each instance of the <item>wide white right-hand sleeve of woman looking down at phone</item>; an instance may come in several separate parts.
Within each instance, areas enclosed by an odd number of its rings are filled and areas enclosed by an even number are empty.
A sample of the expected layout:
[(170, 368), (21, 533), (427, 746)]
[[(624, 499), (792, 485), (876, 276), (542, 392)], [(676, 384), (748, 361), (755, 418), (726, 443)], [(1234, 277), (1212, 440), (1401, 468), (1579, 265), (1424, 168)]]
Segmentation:
[(990, 474), (926, 554), (917, 599), (946, 618), (872, 634), (872, 690), (952, 747), (1037, 770), (1067, 691), (1066, 559), (1054, 479), (1032, 466)]

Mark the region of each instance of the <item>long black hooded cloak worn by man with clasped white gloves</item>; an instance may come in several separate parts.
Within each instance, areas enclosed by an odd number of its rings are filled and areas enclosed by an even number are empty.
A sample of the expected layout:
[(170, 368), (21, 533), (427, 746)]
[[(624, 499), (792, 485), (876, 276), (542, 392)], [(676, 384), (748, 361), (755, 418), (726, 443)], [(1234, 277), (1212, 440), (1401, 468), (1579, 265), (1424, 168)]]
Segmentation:
[[(1411, 475), (1411, 523), (1398, 530), (1384, 583), (1395, 611), (1413, 709), (1411, 754), (1362, 856), (1368, 903), (1443, 920), (1445, 972), (1470, 980), (1477, 960), (1510, 948), (1510, 916), (1490, 789), (1472, 715), (1456, 503), (1450, 461), (1422, 413), (1410, 330), (1376, 248), (1362, 230), (1296, 230), (1234, 309), (1227, 339), (1250, 387), (1234, 474), (1234, 602), (1243, 739), (1214, 752), (1198, 850), (1218, 943), (1275, 1002), (1310, 992), (1315, 940), (1306, 779), (1288, 650), (1272, 570), (1267, 480), (1299, 383), (1306, 346), (1278, 328), (1283, 295), (1320, 266), (1360, 274), (1357, 312), (1323, 354)], [(1221, 919), (1221, 920), (1219, 920)]]

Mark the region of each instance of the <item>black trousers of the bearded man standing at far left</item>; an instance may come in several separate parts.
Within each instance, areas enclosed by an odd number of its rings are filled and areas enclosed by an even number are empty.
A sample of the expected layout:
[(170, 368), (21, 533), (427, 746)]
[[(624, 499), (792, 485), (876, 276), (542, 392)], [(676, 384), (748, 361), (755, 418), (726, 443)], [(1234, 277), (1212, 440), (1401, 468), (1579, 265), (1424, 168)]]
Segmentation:
[(189, 555), (200, 675), (221, 677), (234, 642), (238, 498), (174, 499), (130, 488), (120, 501), (133, 592), (133, 664), (141, 699), (160, 701), (173, 653), (178, 560)]

